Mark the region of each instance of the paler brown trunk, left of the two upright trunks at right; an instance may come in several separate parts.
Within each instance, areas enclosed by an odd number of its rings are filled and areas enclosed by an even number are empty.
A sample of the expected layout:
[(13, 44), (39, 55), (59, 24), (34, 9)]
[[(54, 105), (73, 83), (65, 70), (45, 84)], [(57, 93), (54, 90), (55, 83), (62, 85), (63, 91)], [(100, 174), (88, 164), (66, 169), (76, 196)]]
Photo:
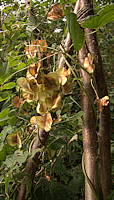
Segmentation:
[[(79, 61), (83, 65), (84, 59), (87, 56), (87, 49), (84, 47), (79, 51)], [(97, 176), (97, 154), (98, 141), (96, 133), (96, 118), (93, 109), (94, 94), (91, 87), (90, 75), (81, 69), (83, 81), (82, 91), (82, 110), (83, 116), (83, 151), (84, 165), (87, 176), (89, 177), (95, 192), (98, 193), (98, 176)], [(92, 191), (88, 180), (85, 177), (85, 200), (96, 200), (95, 194)]]

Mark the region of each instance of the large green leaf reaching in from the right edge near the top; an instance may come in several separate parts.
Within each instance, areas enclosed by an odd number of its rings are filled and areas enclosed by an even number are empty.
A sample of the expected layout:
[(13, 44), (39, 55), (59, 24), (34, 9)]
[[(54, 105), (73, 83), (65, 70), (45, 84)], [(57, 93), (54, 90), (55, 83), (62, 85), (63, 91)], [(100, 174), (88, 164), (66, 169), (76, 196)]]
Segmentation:
[(97, 15), (86, 18), (85, 21), (81, 22), (81, 26), (96, 29), (112, 21), (114, 21), (114, 4), (107, 5)]

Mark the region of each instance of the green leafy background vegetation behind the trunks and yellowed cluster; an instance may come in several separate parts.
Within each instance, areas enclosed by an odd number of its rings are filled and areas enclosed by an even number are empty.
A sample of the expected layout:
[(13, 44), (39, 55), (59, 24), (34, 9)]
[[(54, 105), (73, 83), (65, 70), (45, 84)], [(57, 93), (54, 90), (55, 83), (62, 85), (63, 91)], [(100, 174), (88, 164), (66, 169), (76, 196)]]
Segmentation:
[[(72, 3), (75, 1), (68, 2), (70, 7), (74, 6)], [(27, 58), (26, 56), (25, 47), (31, 41), (46, 40), (48, 48), (43, 56), (43, 66), (49, 71), (57, 69), (58, 55), (61, 54), (60, 44), (66, 38), (68, 29), (66, 18), (55, 21), (47, 19), (47, 13), (54, 3), (58, 1), (30, 1), (32, 14), (29, 15), (29, 6), (27, 7), (25, 3), (1, 1), (0, 200), (16, 199), (19, 185), (25, 176), (24, 168), (27, 160), (33, 158), (37, 152), (40, 152), (40, 163), (36, 163), (33, 183), (30, 181), (27, 183), (29, 189), (26, 199), (81, 200), (84, 196), (84, 175), (81, 164), (82, 79), (76, 50), (71, 48), (70, 66), (73, 73), (68, 78), (67, 88), (63, 88), (65, 94), (62, 105), (56, 113), (61, 115), (62, 120), (52, 125), (46, 145), (41, 149), (31, 152), (36, 132), (31, 126), (30, 118), (36, 115), (36, 104), (25, 102), (21, 105), (22, 102), (14, 101), (15, 96), (21, 95), (17, 87), (17, 79), (25, 77), (28, 66), (38, 61), (38, 57)], [(113, 2), (94, 1), (95, 12), (111, 3)], [(110, 97), (112, 188), (114, 188), (114, 22), (96, 30)], [(53, 56), (47, 59), (51, 54)], [(94, 106), (96, 109), (96, 105)], [(21, 148), (18, 147), (18, 139), (17, 145), (8, 142), (7, 137), (11, 134), (19, 135)], [(109, 199), (114, 199), (114, 190)]]

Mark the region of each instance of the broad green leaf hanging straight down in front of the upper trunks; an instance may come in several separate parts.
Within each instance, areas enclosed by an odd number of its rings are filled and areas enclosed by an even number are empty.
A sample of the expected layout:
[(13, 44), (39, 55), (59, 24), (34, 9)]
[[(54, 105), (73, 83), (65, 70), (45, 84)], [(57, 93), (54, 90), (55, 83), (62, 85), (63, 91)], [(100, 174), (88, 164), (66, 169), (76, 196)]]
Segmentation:
[(84, 45), (84, 32), (74, 13), (67, 14), (68, 28), (73, 41), (74, 49), (79, 51)]

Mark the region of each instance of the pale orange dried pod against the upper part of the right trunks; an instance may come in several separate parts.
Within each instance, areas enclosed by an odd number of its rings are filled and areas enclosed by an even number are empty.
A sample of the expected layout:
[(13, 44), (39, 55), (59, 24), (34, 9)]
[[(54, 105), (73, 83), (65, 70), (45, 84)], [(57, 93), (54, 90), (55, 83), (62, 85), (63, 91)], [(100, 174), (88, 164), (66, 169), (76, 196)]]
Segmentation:
[(85, 57), (83, 67), (88, 73), (94, 72), (93, 57), (90, 53), (88, 53), (87, 57)]

